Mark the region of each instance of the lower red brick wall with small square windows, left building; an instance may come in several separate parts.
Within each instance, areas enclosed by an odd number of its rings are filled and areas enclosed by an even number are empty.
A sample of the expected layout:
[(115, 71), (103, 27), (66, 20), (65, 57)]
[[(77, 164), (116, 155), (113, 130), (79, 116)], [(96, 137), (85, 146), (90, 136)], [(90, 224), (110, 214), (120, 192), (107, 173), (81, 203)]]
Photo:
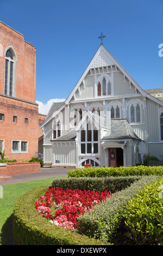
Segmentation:
[[(0, 96), (0, 112), (4, 114), (4, 121), (0, 120), (0, 139), (4, 139), (5, 157), (30, 159), (38, 150), (38, 106)], [(13, 115), (17, 117), (17, 123), (13, 123)], [(28, 125), (24, 124), (24, 118), (28, 118)], [(28, 153), (12, 153), (12, 140), (28, 141)]]

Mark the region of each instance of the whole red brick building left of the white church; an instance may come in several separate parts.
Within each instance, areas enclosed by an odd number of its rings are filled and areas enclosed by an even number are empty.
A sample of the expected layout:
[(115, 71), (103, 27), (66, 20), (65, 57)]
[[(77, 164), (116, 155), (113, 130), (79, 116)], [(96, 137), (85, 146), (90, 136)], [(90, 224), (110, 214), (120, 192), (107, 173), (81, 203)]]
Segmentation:
[[(42, 136), (36, 103), (36, 48), (0, 21), (0, 150), (25, 160)], [(42, 120), (42, 121), (43, 121)]]

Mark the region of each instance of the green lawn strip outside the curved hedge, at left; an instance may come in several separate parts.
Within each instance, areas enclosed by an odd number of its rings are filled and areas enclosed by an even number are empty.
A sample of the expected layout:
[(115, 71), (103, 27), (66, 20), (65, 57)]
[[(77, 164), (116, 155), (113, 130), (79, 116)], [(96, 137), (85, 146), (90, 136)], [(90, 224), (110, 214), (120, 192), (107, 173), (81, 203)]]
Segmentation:
[(3, 198), (0, 198), (0, 245), (5, 245), (7, 230), (10, 223), (12, 222), (12, 211), (14, 209), (16, 200), (21, 197), (22, 194), (32, 190), (35, 187), (43, 186), (46, 184), (51, 185), (54, 179), (66, 177), (67, 176), (52, 177), (2, 186)]

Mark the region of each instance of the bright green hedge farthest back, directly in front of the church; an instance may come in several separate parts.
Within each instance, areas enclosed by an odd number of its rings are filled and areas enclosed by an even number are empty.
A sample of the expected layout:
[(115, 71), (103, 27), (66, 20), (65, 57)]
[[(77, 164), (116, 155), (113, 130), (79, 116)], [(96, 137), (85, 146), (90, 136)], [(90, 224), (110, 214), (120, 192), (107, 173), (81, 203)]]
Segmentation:
[(163, 175), (163, 166), (98, 167), (68, 170), (68, 177)]

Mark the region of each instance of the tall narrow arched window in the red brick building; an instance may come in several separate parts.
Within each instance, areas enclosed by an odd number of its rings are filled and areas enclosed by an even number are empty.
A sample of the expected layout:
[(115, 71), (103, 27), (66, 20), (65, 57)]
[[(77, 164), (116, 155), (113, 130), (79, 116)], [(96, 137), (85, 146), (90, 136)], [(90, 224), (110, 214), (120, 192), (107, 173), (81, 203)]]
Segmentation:
[(5, 95), (9, 95), (9, 96), (15, 95), (14, 72), (15, 72), (15, 55), (11, 49), (8, 49), (5, 54), (5, 80), (4, 80)]

